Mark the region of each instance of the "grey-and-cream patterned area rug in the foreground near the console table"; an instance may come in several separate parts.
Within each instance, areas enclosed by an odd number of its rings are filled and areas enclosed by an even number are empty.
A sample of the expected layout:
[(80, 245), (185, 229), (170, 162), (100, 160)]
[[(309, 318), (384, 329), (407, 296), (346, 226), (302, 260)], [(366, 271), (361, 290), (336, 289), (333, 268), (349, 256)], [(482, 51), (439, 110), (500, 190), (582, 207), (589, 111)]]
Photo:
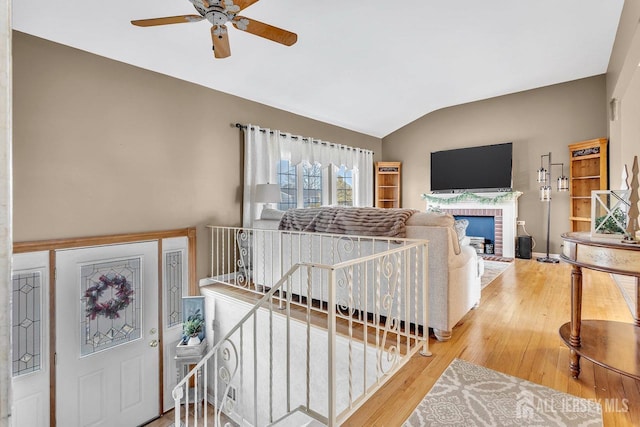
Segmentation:
[(403, 427), (602, 425), (595, 401), (454, 359)]

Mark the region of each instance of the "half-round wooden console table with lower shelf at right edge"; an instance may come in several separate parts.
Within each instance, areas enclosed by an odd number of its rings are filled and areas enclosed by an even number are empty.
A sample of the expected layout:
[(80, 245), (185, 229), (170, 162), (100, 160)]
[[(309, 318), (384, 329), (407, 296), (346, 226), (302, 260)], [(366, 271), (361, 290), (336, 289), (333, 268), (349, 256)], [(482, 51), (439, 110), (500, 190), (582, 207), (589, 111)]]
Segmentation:
[[(562, 235), (561, 258), (571, 270), (571, 322), (560, 327), (570, 349), (569, 369), (580, 375), (580, 357), (640, 380), (640, 244), (592, 238), (587, 232)], [(582, 320), (582, 268), (633, 276), (636, 283), (634, 323)]]

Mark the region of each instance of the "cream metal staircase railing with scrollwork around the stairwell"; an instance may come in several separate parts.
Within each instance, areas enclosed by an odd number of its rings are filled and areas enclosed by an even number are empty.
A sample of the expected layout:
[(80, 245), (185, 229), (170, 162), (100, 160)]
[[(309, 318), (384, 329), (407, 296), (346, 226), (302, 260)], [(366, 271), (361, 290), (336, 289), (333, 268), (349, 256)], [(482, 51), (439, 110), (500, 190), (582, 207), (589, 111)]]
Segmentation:
[[(216, 298), (216, 319), (238, 321), (174, 388), (176, 426), (287, 425), (294, 411), (339, 425), (429, 354), (427, 242), (211, 230), (210, 282), (257, 301)], [(318, 251), (331, 255), (303, 255)]]

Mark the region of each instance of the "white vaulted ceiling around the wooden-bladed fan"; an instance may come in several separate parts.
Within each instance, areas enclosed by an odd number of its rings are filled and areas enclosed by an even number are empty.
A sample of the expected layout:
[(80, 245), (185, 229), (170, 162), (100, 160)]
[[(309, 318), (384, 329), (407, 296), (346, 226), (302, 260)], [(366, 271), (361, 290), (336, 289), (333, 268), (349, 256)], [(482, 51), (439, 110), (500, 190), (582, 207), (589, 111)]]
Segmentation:
[[(286, 47), (231, 25), (140, 28), (188, 0), (13, 2), (16, 30), (374, 137), (440, 108), (607, 70), (623, 0), (261, 0), (240, 15), (298, 34)], [(268, 123), (262, 125), (268, 126)]]

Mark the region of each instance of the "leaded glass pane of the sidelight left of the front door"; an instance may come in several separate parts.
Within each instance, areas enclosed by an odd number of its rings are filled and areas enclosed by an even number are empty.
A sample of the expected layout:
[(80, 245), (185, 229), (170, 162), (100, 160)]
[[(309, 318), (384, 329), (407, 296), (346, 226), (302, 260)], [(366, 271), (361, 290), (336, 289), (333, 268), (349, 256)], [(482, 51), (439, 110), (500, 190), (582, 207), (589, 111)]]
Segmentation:
[(42, 363), (42, 274), (12, 276), (13, 376), (39, 371)]

